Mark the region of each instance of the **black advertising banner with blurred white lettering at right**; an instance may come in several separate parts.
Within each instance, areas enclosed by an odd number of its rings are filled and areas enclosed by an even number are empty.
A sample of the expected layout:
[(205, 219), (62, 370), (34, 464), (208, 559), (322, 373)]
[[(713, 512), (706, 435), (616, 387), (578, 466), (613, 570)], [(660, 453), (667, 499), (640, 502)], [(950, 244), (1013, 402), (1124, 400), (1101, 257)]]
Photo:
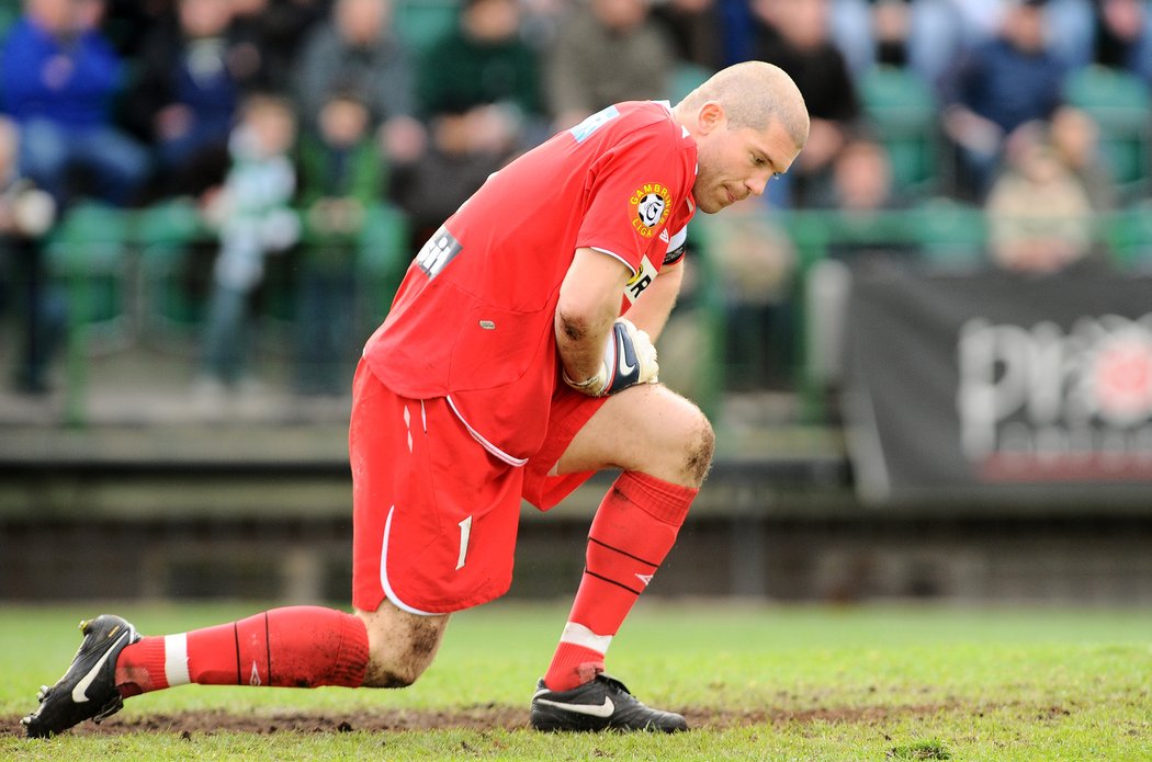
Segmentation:
[(1152, 510), (1152, 276), (858, 272), (847, 330), (866, 501)]

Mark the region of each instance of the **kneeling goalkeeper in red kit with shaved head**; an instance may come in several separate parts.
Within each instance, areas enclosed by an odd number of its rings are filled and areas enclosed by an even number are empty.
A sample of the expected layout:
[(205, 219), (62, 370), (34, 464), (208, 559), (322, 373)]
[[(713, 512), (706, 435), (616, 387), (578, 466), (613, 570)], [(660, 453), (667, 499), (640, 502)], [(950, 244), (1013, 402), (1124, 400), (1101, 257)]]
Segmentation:
[(763, 193), (808, 125), (791, 79), (746, 62), (675, 107), (606, 108), (490, 177), (416, 256), (357, 368), (355, 612), (288, 607), (162, 637), (97, 617), (28, 734), (187, 683), (411, 685), (452, 612), (507, 592), (521, 501), (548, 510), (604, 468), (622, 473), (530, 721), (685, 729), (604, 671), (712, 459), (706, 418), (657, 382), (652, 337), (680, 290), (688, 221)]

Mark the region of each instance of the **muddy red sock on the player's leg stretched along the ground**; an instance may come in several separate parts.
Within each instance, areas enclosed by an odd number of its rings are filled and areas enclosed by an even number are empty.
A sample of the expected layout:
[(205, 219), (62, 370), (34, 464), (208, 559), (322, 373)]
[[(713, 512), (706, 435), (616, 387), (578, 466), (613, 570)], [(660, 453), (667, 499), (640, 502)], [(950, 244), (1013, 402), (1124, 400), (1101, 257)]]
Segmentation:
[(357, 617), (314, 605), (273, 609), (232, 624), (143, 638), (120, 653), (123, 696), (198, 683), (357, 687), (367, 669), (367, 630)]

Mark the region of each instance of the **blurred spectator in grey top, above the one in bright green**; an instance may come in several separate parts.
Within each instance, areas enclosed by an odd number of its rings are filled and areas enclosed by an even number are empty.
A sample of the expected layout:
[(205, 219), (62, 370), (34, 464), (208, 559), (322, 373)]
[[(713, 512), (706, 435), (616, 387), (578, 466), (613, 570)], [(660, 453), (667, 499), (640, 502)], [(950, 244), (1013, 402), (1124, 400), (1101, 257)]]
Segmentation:
[(311, 123), (327, 93), (358, 90), (381, 120), (385, 155), (410, 161), (424, 150), (424, 129), (415, 117), (409, 53), (393, 30), (392, 13), (392, 0), (335, 0), (331, 18), (311, 33), (297, 60), (295, 98)]

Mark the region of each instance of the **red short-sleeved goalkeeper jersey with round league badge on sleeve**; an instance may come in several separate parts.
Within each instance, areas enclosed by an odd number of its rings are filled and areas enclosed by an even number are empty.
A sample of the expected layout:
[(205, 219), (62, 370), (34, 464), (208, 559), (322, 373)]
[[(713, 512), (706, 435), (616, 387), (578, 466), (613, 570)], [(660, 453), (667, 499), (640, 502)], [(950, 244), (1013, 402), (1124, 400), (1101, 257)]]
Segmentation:
[(364, 356), (393, 391), (447, 397), (493, 455), (539, 449), (558, 383), (553, 320), (577, 249), (631, 270), (639, 298), (683, 251), (696, 143), (667, 104), (617, 104), (520, 157), (420, 249)]

